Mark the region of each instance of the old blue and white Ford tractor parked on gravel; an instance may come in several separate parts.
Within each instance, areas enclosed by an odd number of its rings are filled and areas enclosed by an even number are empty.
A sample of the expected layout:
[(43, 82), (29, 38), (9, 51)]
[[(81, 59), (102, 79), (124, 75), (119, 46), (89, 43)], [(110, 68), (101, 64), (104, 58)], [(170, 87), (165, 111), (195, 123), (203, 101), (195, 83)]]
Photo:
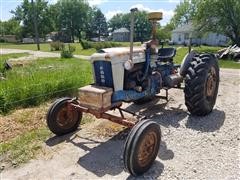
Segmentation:
[[(161, 142), (160, 125), (135, 112), (121, 108), (123, 102), (143, 104), (160, 91), (184, 89), (185, 104), (192, 115), (209, 114), (216, 101), (219, 67), (214, 54), (189, 51), (181, 65), (174, 64), (176, 49), (159, 47), (156, 39), (161, 12), (151, 12), (152, 39), (133, 47), (134, 16), (131, 9), (130, 48), (106, 48), (91, 56), (94, 83), (79, 88), (78, 97), (56, 100), (47, 113), (47, 125), (57, 136), (78, 129), (83, 113), (131, 128), (126, 139), (123, 161), (133, 176), (145, 173), (153, 164)], [(109, 113), (119, 110), (118, 115)], [(134, 118), (126, 117), (131, 114)]]

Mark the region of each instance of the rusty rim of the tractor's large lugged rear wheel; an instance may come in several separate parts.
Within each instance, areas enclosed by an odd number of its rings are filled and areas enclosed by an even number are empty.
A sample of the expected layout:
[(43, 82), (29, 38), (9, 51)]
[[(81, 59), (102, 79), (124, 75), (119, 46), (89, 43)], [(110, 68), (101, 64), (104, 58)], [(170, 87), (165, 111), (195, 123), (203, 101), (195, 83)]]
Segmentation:
[(211, 69), (208, 72), (207, 82), (206, 82), (206, 94), (207, 97), (213, 97), (214, 92), (216, 89), (217, 84), (217, 75), (216, 70), (214, 67), (211, 67)]

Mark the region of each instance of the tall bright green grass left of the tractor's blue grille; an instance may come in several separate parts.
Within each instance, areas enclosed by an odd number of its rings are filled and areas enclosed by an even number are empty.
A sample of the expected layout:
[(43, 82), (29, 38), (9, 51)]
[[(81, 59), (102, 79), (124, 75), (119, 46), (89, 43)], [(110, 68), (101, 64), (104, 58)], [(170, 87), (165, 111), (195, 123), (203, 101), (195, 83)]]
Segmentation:
[(0, 113), (74, 95), (79, 87), (91, 82), (91, 66), (87, 61), (74, 58), (34, 61), (7, 72), (7, 80), (0, 82)]

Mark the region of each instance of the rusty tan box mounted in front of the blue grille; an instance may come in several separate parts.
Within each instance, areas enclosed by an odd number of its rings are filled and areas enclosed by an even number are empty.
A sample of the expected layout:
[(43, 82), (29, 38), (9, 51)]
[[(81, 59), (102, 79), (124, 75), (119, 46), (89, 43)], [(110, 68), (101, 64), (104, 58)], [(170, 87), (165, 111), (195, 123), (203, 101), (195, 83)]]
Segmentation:
[(79, 101), (90, 109), (106, 109), (111, 106), (112, 88), (88, 85), (79, 88)]

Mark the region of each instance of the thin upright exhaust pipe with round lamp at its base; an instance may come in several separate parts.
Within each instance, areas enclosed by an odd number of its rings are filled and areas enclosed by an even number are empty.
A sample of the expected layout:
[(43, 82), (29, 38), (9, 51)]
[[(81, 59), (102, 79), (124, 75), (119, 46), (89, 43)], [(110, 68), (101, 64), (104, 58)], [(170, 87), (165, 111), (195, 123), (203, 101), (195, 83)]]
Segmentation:
[(131, 70), (133, 68), (133, 38), (134, 38), (134, 13), (138, 11), (137, 8), (132, 8), (131, 10), (131, 24), (130, 24), (130, 55), (129, 60), (124, 63), (124, 68), (126, 70)]

